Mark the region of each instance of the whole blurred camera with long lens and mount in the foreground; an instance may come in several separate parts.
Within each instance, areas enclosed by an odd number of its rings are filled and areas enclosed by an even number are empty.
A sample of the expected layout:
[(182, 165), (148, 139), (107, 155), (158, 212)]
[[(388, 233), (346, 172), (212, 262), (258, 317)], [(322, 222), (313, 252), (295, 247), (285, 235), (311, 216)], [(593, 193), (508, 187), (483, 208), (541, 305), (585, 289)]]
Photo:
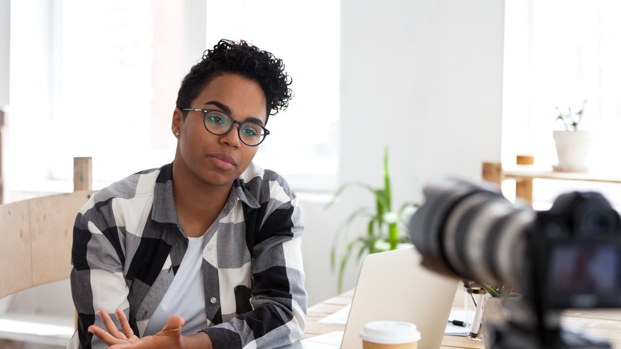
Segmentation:
[(522, 294), (507, 323), (486, 325), (492, 348), (610, 348), (560, 327), (563, 309), (621, 306), (621, 219), (604, 196), (565, 193), (534, 211), (456, 178), (424, 196), (409, 225), (422, 265)]

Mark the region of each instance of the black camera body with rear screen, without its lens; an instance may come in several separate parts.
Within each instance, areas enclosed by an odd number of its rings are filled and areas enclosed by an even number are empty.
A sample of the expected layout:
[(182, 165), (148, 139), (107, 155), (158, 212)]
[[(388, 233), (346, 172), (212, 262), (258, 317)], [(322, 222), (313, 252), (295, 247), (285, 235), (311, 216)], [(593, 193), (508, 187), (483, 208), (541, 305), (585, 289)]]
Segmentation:
[(525, 232), (524, 300), (544, 309), (621, 306), (621, 222), (599, 193), (557, 197)]

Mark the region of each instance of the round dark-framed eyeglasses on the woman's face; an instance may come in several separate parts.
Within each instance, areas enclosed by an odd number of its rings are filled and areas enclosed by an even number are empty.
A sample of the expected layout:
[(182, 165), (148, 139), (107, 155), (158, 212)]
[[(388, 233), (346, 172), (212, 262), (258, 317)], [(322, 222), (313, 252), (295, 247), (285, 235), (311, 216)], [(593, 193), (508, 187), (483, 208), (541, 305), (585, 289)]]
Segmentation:
[(202, 124), (210, 134), (222, 136), (228, 134), (233, 129), (234, 124), (238, 124), (237, 134), (245, 145), (256, 147), (270, 134), (263, 125), (252, 121), (239, 122), (233, 120), (229, 114), (214, 109), (181, 109), (182, 111), (202, 112)]

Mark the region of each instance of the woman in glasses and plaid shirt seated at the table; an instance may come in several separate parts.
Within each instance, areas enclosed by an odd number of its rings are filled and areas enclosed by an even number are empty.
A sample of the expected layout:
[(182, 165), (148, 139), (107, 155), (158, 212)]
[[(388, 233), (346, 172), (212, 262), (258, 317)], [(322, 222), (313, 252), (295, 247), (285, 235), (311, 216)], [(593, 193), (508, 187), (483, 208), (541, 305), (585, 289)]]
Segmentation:
[(274, 348), (302, 337), (296, 196), (252, 163), (285, 109), (281, 60), (220, 40), (183, 79), (175, 159), (101, 189), (76, 217), (79, 348)]

